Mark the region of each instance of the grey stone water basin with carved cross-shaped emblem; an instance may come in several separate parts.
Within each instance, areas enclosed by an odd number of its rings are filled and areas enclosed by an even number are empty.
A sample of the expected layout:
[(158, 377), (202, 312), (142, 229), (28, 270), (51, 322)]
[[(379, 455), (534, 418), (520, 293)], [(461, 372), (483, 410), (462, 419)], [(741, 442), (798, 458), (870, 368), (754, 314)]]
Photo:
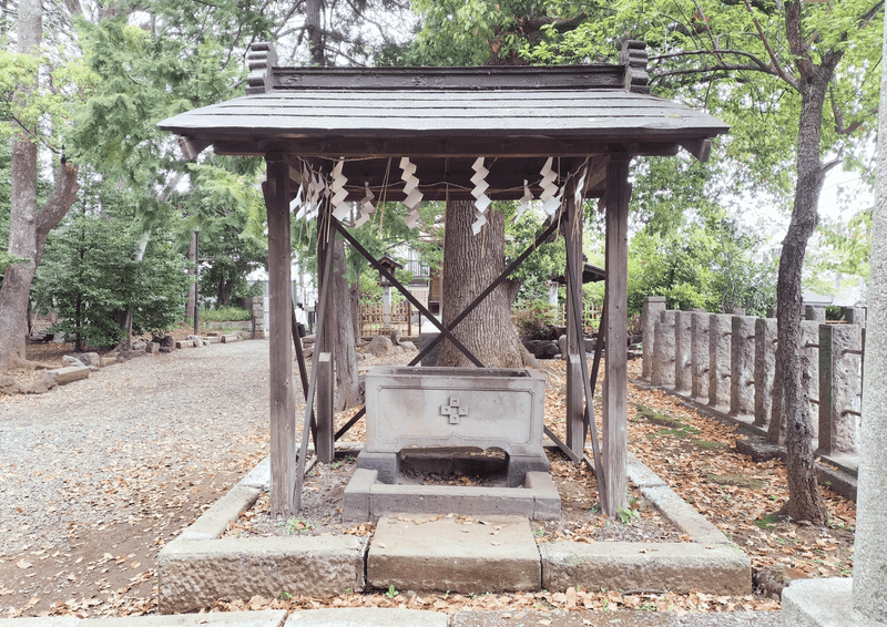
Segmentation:
[(548, 471), (546, 380), (527, 369), (377, 367), (366, 378), (367, 443), (359, 469), (394, 484), (407, 450), (500, 450), (508, 485)]

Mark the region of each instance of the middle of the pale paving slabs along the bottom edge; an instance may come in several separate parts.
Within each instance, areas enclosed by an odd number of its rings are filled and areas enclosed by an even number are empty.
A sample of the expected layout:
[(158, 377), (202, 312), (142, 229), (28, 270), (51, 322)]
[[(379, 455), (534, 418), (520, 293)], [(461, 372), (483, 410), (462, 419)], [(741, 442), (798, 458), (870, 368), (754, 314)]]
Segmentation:
[(438, 611), (356, 607), (294, 611), (286, 627), (448, 627), (449, 616)]

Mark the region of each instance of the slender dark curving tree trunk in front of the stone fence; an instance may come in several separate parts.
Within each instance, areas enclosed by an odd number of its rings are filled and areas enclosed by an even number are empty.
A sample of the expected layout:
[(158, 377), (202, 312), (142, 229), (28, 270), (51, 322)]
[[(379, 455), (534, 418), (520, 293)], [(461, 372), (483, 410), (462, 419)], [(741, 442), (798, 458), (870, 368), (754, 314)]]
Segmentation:
[(819, 161), (823, 105), (832, 72), (814, 68), (802, 88), (802, 113), (797, 140), (797, 184), (792, 220), (783, 240), (776, 286), (778, 371), (783, 373), (783, 420), (786, 432), (789, 502), (785, 511), (794, 520), (823, 524), (828, 517), (813, 455), (813, 421), (807, 382), (801, 363), (803, 308), (802, 269), (807, 241), (819, 220), (819, 193), (825, 169)]

